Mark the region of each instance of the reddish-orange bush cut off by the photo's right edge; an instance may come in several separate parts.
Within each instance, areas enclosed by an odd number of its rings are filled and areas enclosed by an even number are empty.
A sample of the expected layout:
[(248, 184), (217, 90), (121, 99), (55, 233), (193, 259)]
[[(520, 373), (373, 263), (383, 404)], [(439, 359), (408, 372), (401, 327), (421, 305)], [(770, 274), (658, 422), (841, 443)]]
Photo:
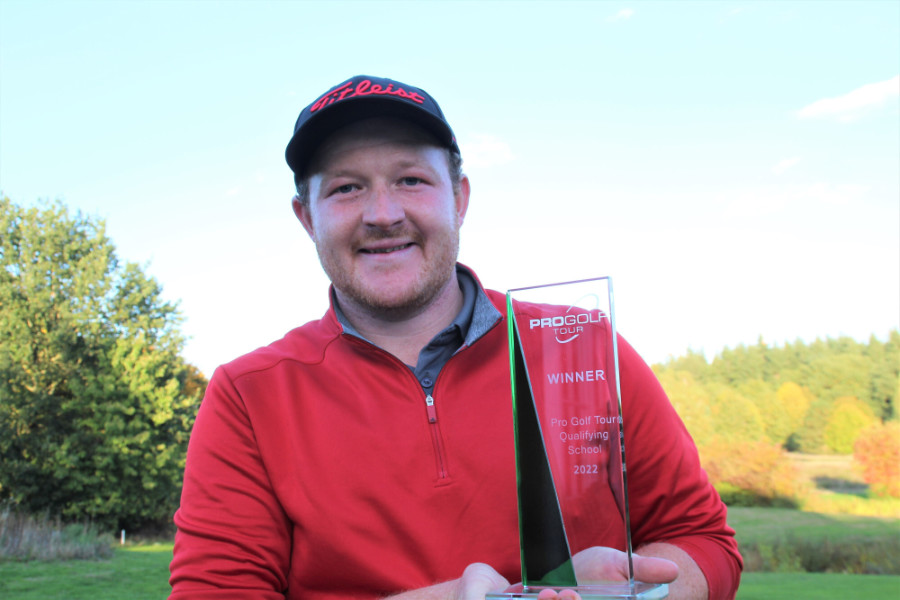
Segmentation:
[(900, 498), (900, 423), (876, 423), (863, 430), (853, 457), (873, 496)]

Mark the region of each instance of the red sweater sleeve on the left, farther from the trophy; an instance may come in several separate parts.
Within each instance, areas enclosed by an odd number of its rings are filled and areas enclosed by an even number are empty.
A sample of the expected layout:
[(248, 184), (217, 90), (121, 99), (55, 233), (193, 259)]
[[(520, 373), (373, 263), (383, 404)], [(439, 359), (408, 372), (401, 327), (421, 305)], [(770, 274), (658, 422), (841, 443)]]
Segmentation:
[(170, 599), (284, 599), (291, 527), (260, 458), (264, 434), (219, 368), (188, 444)]

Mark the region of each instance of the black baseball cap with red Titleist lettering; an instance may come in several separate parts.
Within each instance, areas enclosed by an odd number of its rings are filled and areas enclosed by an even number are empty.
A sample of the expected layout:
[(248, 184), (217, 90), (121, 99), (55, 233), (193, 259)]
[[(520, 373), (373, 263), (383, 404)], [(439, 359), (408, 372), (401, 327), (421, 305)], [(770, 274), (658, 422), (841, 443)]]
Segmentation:
[(446, 148), (459, 152), (456, 136), (441, 107), (423, 89), (369, 75), (357, 75), (334, 86), (300, 112), (284, 158), (299, 179), (325, 138), (354, 121), (398, 117), (434, 135)]

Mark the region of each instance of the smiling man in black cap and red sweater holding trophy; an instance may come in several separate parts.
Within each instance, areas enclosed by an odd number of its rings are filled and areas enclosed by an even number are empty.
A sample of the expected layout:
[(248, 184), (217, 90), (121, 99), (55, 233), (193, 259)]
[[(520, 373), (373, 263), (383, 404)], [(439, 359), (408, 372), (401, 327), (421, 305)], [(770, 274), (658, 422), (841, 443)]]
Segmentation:
[[(171, 597), (503, 591), (520, 573), (505, 298), (456, 263), (453, 132), (423, 90), (357, 76), (301, 112), (286, 157), (331, 308), (213, 375)], [(629, 446), (637, 578), (733, 597), (740, 555), (693, 442), (624, 341), (620, 364), (630, 439), (652, 440)], [(621, 521), (586, 526), (579, 576), (627, 576)]]

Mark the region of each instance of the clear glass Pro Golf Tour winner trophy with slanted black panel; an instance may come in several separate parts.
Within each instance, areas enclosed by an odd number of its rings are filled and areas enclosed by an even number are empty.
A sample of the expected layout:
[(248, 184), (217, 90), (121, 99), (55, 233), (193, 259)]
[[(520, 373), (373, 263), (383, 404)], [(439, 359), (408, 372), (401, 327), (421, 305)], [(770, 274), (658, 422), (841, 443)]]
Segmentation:
[[(573, 589), (583, 600), (665, 598), (635, 581), (625, 442), (608, 277), (509, 290), (522, 584), (488, 598)], [(590, 581), (573, 556), (624, 550), (627, 578)]]

